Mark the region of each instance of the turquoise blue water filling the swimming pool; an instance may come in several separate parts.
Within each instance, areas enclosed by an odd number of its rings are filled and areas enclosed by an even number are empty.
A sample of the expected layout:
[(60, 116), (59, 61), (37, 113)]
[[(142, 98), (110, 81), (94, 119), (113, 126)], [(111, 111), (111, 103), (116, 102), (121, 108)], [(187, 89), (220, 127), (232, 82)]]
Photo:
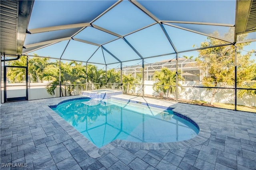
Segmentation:
[(171, 110), (113, 99), (74, 100), (52, 109), (97, 147), (116, 139), (147, 143), (184, 141), (199, 132), (190, 121)]

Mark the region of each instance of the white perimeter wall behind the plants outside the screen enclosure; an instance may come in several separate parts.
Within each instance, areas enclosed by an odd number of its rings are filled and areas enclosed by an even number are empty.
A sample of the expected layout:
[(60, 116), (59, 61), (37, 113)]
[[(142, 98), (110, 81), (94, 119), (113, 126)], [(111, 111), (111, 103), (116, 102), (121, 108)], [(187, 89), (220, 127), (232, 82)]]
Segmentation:
[[(180, 82), (181, 84), (182, 82)], [(59, 97), (60, 96), (60, 90), (59, 88), (56, 88), (55, 95), (51, 96), (46, 91), (46, 86), (35, 86), (35, 85), (42, 85), (43, 83), (30, 83), (30, 87), (28, 90), (28, 100), (35, 100), (35, 99), (43, 99), (43, 98), (53, 98), (53, 97)], [(153, 86), (147, 86), (147, 85), (153, 85), (154, 81), (145, 81), (145, 87), (144, 87), (144, 94), (145, 96), (152, 95), (156, 96), (158, 95), (153, 90)], [(32, 86), (33, 85), (33, 86)], [(43, 84), (47, 85), (47, 83)], [(198, 86), (196, 82), (183, 82), (184, 86)], [(200, 85), (199, 85), (200, 86)], [(9, 90), (7, 90), (7, 97), (21, 97), (26, 96), (26, 90), (22, 89), (24, 86), (14, 86), (10, 87)], [(80, 94), (80, 90), (78, 88), (75, 89), (76, 94)], [(65, 90), (62, 88), (62, 92), (65, 95)], [(68, 92), (66, 92), (66, 95), (69, 96)], [(208, 91), (206, 88), (185, 88), (184, 91), (182, 91), (179, 94), (180, 99), (187, 99), (187, 100), (202, 100), (210, 103), (212, 93)], [(171, 97), (174, 97), (172, 95)], [(214, 98), (214, 102), (216, 103), (226, 103), (226, 104), (234, 104), (234, 90), (232, 89), (222, 89), (220, 92), (218, 92)], [(256, 96), (248, 96), (244, 95), (244, 98), (240, 99), (237, 98), (237, 104), (238, 105), (244, 105), (244, 106), (256, 106)]]

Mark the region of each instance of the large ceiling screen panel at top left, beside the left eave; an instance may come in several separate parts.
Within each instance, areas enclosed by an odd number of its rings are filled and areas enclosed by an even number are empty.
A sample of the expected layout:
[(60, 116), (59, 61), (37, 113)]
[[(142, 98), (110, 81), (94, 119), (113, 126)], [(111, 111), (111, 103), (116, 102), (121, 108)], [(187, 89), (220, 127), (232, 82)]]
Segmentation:
[(115, 2), (114, 0), (36, 0), (28, 29), (91, 22)]

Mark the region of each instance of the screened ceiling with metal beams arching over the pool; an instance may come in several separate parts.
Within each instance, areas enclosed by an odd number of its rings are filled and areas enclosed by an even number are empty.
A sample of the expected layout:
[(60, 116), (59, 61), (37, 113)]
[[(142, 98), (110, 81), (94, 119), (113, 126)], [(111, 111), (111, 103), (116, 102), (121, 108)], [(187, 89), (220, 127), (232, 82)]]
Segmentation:
[[(208, 37), (221, 40), (219, 45), (255, 41), (250, 14), (256, 1), (241, 3), (36, 0), (22, 54), (115, 64), (198, 50)], [(248, 35), (239, 40), (243, 33)]]

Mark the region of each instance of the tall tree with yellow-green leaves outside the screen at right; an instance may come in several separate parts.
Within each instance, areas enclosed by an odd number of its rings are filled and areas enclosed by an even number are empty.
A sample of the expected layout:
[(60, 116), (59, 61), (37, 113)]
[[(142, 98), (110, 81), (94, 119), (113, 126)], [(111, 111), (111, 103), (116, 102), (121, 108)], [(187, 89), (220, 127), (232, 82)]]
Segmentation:
[[(224, 37), (229, 38), (230, 32)], [(218, 32), (215, 32), (215, 37), (218, 37)], [(202, 42), (201, 47), (208, 47), (214, 45), (224, 44), (222, 40), (207, 38), (208, 41)], [(237, 44), (237, 85), (241, 86), (246, 80), (250, 78), (250, 63), (249, 58), (252, 51), (246, 55), (242, 55), (241, 51), (245, 45), (249, 43)], [(206, 87), (228, 87), (234, 86), (234, 66), (235, 66), (235, 47), (234, 45), (208, 48), (198, 51), (199, 55), (196, 58), (197, 66), (204, 74), (202, 84)], [(216, 88), (209, 88), (212, 92), (212, 99), (210, 104), (213, 104), (214, 96), (220, 90)]]

